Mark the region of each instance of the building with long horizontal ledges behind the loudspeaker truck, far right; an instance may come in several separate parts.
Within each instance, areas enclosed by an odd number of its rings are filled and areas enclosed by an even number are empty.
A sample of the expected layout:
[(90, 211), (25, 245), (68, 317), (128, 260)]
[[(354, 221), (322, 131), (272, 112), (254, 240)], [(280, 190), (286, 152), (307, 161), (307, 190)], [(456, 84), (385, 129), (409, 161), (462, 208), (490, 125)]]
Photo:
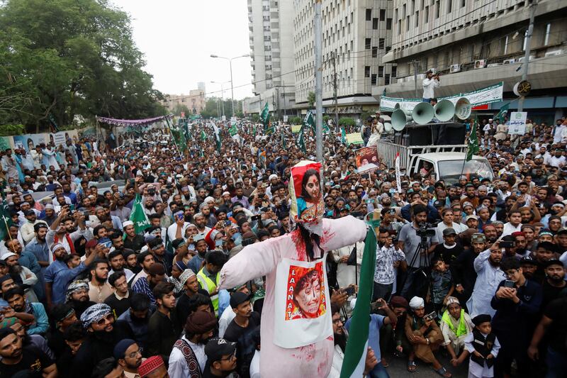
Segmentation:
[[(535, 5), (537, 4), (537, 5)], [(527, 79), (532, 91), (524, 111), (537, 109), (555, 121), (567, 107), (567, 2), (557, 0), (393, 0), (392, 48), (384, 62), (395, 62), (397, 80), (373, 87), (379, 99), (420, 98), (424, 73), (441, 74), (435, 96), (474, 91), (504, 82), (504, 103), (524, 68), (529, 16), (535, 11)], [(417, 82), (415, 80), (417, 76)], [(503, 103), (485, 106), (495, 113)], [(515, 109), (517, 102), (510, 105)], [(530, 116), (531, 118), (531, 116)]]

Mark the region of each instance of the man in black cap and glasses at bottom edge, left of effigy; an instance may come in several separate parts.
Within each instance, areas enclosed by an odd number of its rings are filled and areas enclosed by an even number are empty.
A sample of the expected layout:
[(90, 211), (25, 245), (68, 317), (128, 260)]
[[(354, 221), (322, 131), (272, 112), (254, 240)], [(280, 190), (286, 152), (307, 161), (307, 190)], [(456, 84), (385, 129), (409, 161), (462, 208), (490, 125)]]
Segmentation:
[(213, 338), (205, 346), (207, 364), (203, 370), (203, 378), (228, 377), (237, 366), (236, 343), (222, 338)]

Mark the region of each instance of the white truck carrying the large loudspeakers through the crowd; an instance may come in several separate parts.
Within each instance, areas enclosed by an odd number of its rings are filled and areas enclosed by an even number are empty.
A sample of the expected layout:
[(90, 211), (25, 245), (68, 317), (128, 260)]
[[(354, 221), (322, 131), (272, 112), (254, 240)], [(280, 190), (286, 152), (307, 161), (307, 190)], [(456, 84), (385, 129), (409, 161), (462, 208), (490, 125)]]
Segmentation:
[[(465, 162), (466, 145), (399, 145), (396, 143), (378, 140), (378, 157), (385, 162), (388, 168), (395, 166), (395, 155), (400, 152), (400, 167), (412, 177), (419, 173), (428, 162), (433, 167), (432, 178), (442, 179), (446, 184), (459, 181), (461, 172), (468, 179), (478, 177), (492, 181), (494, 172), (485, 157), (473, 155)], [(464, 164), (464, 167), (463, 167)]]

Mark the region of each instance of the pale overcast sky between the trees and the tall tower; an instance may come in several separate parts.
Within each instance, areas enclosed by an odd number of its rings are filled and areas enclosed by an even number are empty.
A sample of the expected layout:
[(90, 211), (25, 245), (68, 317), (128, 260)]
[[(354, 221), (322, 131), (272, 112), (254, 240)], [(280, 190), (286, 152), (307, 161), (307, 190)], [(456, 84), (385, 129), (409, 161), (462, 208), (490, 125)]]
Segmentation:
[[(228, 60), (249, 54), (246, 0), (111, 0), (130, 13), (134, 40), (144, 53), (145, 69), (165, 94), (189, 94), (197, 82), (207, 93), (230, 81)], [(252, 96), (250, 58), (232, 61), (235, 99)], [(230, 98), (230, 83), (224, 84)], [(227, 90), (228, 88), (228, 90)]]

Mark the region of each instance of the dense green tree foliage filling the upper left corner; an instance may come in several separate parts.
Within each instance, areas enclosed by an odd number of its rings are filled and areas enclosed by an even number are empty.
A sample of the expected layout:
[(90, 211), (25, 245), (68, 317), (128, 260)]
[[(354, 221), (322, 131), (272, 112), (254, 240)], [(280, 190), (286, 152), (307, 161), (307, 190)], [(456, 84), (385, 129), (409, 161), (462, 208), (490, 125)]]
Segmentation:
[[(163, 98), (108, 0), (7, 0), (0, 6), (0, 123), (47, 130), (75, 115), (145, 118)], [(35, 130), (34, 130), (35, 129)]]

